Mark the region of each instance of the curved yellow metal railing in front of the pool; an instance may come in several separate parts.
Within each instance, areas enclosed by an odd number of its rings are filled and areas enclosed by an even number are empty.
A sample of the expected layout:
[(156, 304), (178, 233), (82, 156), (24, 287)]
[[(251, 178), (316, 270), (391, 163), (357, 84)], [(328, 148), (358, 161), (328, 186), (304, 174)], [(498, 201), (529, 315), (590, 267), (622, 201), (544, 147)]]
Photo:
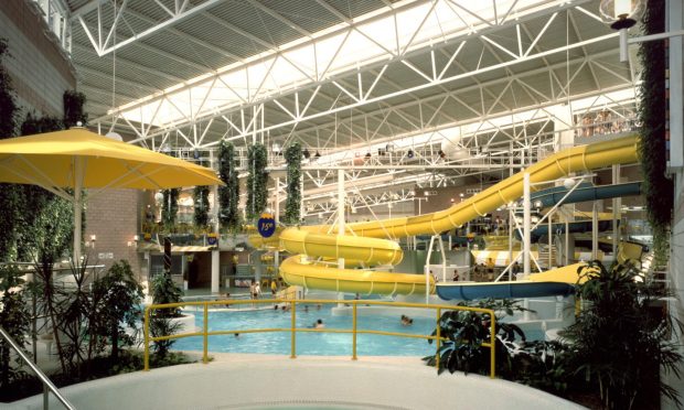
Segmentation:
[[(223, 330), (223, 331), (209, 331), (209, 308), (212, 305), (238, 305), (238, 304), (260, 304), (260, 303), (287, 303), (290, 305), (291, 312), (291, 325), (290, 327), (269, 327), (269, 328), (239, 328), (239, 330)], [(344, 303), (346, 305), (351, 305), (352, 308), (352, 328), (310, 328), (310, 327), (297, 327), (297, 305), (298, 304), (338, 304)], [(439, 324), (439, 320), (441, 317), (441, 312), (445, 310), (459, 310), (459, 311), (470, 311), (470, 312), (480, 312), (490, 315), (491, 325), (490, 325), (490, 342), (482, 343), (481, 346), (489, 347), (490, 349), (490, 377), (495, 377), (495, 321), (496, 316), (494, 315), (494, 311), (491, 309), (481, 309), (481, 308), (470, 308), (470, 306), (455, 306), (455, 305), (442, 305), (442, 304), (423, 304), (423, 303), (398, 303), (398, 302), (381, 302), (381, 301), (368, 301), (368, 300), (323, 300), (323, 299), (263, 299), (263, 300), (216, 300), (216, 301), (197, 301), (197, 302), (181, 302), (181, 303), (167, 303), (167, 304), (152, 304), (145, 309), (145, 323), (143, 323), (143, 334), (145, 334), (145, 370), (150, 369), (150, 342), (160, 342), (160, 341), (171, 341), (177, 338), (184, 337), (203, 337), (203, 354), (202, 354), (202, 363), (207, 364), (209, 360), (209, 336), (217, 336), (217, 335), (231, 335), (235, 333), (267, 333), (267, 332), (289, 332), (290, 337), (290, 358), (297, 358), (297, 333), (343, 333), (343, 334), (352, 334), (352, 360), (356, 360), (356, 336), (359, 334), (373, 334), (373, 335), (384, 335), (384, 336), (397, 336), (397, 337), (412, 337), (412, 338), (424, 338), (424, 339), (432, 339), (436, 342), (436, 367), (439, 369), (439, 349), (441, 346), (441, 342), (447, 338), (441, 337), (440, 326), (436, 326), (436, 335), (416, 335), (409, 333), (400, 333), (400, 332), (385, 332), (385, 331), (373, 331), (373, 330), (360, 330), (357, 327), (357, 305), (380, 305), (380, 306), (392, 306), (392, 308), (414, 308), (414, 309), (430, 309), (436, 311), (437, 324)], [(152, 337), (150, 335), (150, 315), (151, 312), (159, 309), (170, 309), (170, 308), (182, 308), (182, 306), (202, 306), (203, 308), (203, 325), (201, 332), (191, 332), (191, 333), (181, 333), (173, 335), (164, 335)]]

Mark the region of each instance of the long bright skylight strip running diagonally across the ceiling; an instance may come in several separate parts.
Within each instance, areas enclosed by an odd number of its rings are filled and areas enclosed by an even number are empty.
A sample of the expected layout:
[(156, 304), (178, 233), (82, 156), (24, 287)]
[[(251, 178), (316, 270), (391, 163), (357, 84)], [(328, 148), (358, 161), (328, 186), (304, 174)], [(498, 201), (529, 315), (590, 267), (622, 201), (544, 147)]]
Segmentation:
[(481, 8), (473, 8), (473, 1), (463, 3), (467, 6), (452, 1), (415, 7), (410, 1), (396, 3), (393, 7), (399, 11), (395, 13), (389, 7), (381, 9), (355, 19), (353, 26), (335, 25), (117, 110), (130, 122), (171, 127), (328, 80), (374, 62), (402, 58), (429, 44), (466, 36), (564, 1), (496, 0), (496, 8), (489, 1)]

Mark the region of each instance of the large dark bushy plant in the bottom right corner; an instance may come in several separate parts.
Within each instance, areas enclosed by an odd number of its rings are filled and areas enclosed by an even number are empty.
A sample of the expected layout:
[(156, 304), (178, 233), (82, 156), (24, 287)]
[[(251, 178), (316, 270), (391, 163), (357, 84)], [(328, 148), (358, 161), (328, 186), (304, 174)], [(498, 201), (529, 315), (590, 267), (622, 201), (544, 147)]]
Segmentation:
[(568, 371), (608, 409), (650, 408), (661, 393), (678, 403), (678, 392), (660, 378), (661, 371), (678, 377), (683, 359), (671, 338), (681, 323), (653, 309), (663, 291), (635, 281), (632, 266), (607, 270), (592, 261), (579, 273), (589, 279), (578, 285), (586, 306), (562, 334), (573, 346)]

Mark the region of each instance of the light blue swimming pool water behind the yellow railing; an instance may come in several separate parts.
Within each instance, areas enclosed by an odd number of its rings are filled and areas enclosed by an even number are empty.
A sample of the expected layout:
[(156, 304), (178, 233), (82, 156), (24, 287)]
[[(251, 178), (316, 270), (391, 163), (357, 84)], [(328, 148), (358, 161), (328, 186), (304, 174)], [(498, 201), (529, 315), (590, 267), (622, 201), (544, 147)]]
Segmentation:
[[(190, 312), (194, 313), (194, 312)], [(397, 316), (360, 315), (357, 330), (372, 330), (385, 332), (402, 332), (416, 335), (429, 335), (435, 330), (435, 319), (414, 317), (410, 326), (402, 326), (400, 314)], [(297, 310), (297, 326), (308, 327), (321, 319), (325, 330), (351, 330), (352, 317), (348, 315), (333, 315), (332, 306), (322, 306), (320, 310), (310, 306), (308, 312)], [(195, 325), (203, 326), (201, 312), (195, 313)], [(248, 328), (280, 327), (289, 328), (291, 313), (280, 310), (259, 310), (226, 312), (217, 311), (209, 313), (209, 330), (235, 331)], [(210, 336), (209, 350), (217, 353), (264, 353), (264, 354), (290, 354), (290, 332), (269, 333), (241, 333), (238, 337), (233, 334)], [(177, 339), (173, 345), (179, 350), (202, 350), (202, 337), (185, 337)], [(356, 337), (356, 352), (360, 356), (427, 356), (435, 354), (435, 344), (428, 344), (426, 339), (365, 335)], [(346, 356), (352, 355), (352, 335), (336, 333), (297, 333), (297, 355), (316, 356)]]

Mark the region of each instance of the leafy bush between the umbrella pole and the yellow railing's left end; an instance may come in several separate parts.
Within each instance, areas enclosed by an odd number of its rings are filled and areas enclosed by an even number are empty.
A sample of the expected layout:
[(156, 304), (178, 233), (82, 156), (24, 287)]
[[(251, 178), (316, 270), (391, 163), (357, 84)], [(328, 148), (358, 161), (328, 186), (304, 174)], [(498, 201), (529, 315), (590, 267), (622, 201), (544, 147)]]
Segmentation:
[(136, 281), (128, 261), (121, 259), (114, 263), (107, 273), (93, 282), (90, 328), (95, 335), (105, 337), (111, 346), (110, 357), (116, 360), (119, 345), (130, 347), (135, 335), (126, 333), (125, 326), (137, 328), (141, 316), (142, 287)]

